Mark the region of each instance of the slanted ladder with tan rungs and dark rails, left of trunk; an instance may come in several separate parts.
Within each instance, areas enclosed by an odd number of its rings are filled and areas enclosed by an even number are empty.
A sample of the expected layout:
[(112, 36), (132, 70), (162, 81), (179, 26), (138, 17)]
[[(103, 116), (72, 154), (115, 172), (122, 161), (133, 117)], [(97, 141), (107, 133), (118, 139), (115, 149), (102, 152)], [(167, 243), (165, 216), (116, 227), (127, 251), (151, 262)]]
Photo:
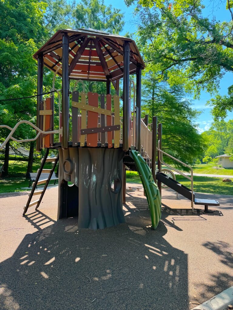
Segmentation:
[[(49, 148), (46, 149), (45, 156), (44, 156), (44, 158), (41, 160), (41, 166), (40, 166), (40, 168), (39, 168), (39, 170), (38, 170), (36, 179), (35, 179), (35, 181), (34, 181), (33, 184), (32, 184), (32, 190), (31, 190), (31, 193), (29, 194), (28, 201), (27, 201), (26, 205), (24, 206), (23, 215), (25, 215), (25, 213), (27, 212), (28, 208), (31, 207), (31, 206), (36, 205), (35, 210), (37, 210), (37, 209), (39, 208), (40, 202), (41, 202), (41, 200), (42, 200), (42, 198), (43, 198), (43, 195), (44, 195), (44, 193), (45, 193), (45, 191), (46, 191), (46, 189), (47, 189), (47, 186), (48, 186), (48, 184), (49, 184), (49, 181), (50, 181), (50, 179), (51, 179), (51, 177), (52, 177), (52, 175), (53, 175), (53, 172), (54, 172), (54, 170), (55, 170), (55, 168), (56, 168), (56, 166), (57, 166), (57, 162), (58, 162), (58, 159), (59, 159), (59, 155), (57, 155), (57, 157), (48, 158), (48, 153), (49, 153)], [(54, 162), (53, 167), (52, 167), (51, 170), (43, 169), (44, 164), (45, 164), (46, 162)], [(40, 180), (40, 181), (39, 181), (40, 175), (41, 175), (41, 173), (43, 173), (43, 172), (49, 172), (48, 179), (44, 179), (44, 180)], [(39, 184), (44, 184), (44, 183), (45, 183), (45, 185), (44, 185), (43, 190), (41, 190), (41, 191), (36, 191), (36, 192), (35, 192), (35, 189), (36, 189), (37, 185), (39, 185)], [(32, 196), (35, 196), (35, 195), (40, 195), (39, 199), (37, 199), (37, 200), (31, 202)]]

